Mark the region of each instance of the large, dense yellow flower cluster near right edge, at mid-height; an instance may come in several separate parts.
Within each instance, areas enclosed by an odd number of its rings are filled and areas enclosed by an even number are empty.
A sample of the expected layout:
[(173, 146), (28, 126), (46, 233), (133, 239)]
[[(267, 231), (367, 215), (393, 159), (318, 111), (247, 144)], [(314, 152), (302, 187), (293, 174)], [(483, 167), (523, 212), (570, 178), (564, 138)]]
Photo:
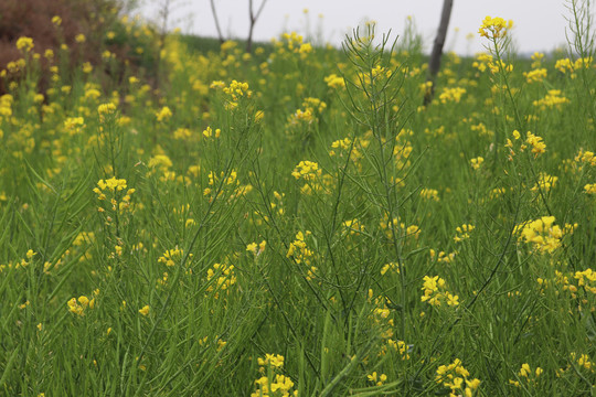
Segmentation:
[(554, 225), (554, 216), (543, 216), (540, 219), (517, 225), (513, 234), (519, 234), (518, 240), (530, 244), (535, 251), (552, 254), (561, 247), (563, 236), (573, 233), (576, 227), (576, 225), (565, 224), (562, 229)]

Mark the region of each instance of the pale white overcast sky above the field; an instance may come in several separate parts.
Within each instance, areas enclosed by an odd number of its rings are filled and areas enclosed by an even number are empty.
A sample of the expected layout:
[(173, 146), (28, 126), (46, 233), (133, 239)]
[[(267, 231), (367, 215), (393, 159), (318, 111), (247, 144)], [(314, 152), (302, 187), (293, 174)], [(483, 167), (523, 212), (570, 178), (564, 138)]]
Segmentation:
[[(164, 0), (145, 0), (143, 17), (155, 20)], [(254, 0), (255, 9), (262, 0)], [(170, 28), (184, 33), (216, 36), (209, 0), (170, 0), (173, 3)], [(517, 49), (523, 53), (562, 46), (570, 11), (565, 0), (454, 0), (446, 51), (473, 55), (483, 51), (485, 39), (478, 28), (486, 15), (514, 22)], [(220, 24), (226, 37), (246, 37), (248, 0), (215, 0)], [(257, 21), (254, 39), (268, 41), (284, 31), (307, 34), (320, 32), (324, 42), (338, 45), (359, 23), (373, 20), (377, 33), (401, 33), (412, 15), (429, 50), (440, 18), (443, 0), (268, 0)], [(594, 12), (594, 6), (592, 6)], [(305, 10), (308, 13), (305, 14)], [(307, 22), (308, 21), (308, 22)], [(473, 39), (466, 39), (473, 33)]]

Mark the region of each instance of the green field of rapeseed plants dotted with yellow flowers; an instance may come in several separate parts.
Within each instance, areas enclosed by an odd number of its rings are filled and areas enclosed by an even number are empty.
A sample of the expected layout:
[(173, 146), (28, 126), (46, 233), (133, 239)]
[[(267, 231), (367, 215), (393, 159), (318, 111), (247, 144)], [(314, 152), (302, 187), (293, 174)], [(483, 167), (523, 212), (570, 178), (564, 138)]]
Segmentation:
[(531, 61), (511, 22), (479, 21), (487, 53), (447, 55), (427, 107), (417, 47), (371, 26), (343, 52), (292, 33), (194, 53), (171, 34), (159, 89), (98, 78), (109, 52), (68, 72), (67, 47), (19, 39), (0, 395), (594, 395), (582, 12), (567, 54)]

